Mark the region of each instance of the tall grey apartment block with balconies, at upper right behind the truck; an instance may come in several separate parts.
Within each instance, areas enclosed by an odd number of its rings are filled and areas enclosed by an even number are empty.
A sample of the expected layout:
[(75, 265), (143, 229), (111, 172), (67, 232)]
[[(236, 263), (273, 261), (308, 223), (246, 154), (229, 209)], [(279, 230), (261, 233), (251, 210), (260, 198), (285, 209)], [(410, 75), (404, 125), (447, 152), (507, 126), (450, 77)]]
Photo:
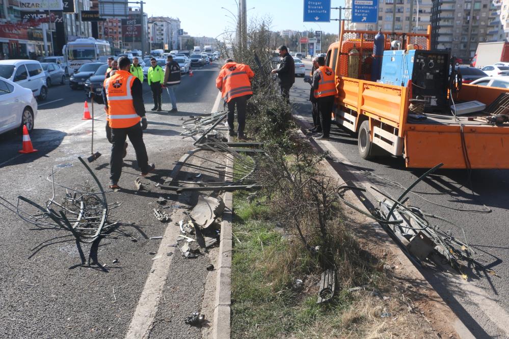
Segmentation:
[(501, 14), (502, 1), (498, 4), (492, 0), (432, 2), (432, 49), (450, 50), (451, 55), (468, 63), (475, 55), (479, 42), (506, 39), (504, 24), (507, 14)]

